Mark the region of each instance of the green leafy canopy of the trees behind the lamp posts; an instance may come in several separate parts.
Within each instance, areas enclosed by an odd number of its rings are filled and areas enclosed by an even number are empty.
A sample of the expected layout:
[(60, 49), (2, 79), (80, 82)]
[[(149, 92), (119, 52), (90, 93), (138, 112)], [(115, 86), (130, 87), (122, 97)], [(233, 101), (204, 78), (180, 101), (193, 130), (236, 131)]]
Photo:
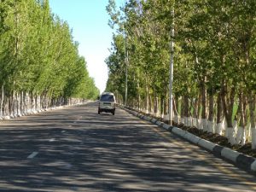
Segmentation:
[(166, 96), (174, 27), (175, 96), (195, 98), (201, 84), (216, 95), (224, 83), (227, 91), (235, 86), (236, 93), (255, 93), (255, 1), (132, 0), (120, 12), (114, 6), (109, 1), (110, 22), (119, 27), (107, 60), (109, 90), (124, 97), (126, 49), (129, 99), (145, 96), (146, 87), (151, 94)]

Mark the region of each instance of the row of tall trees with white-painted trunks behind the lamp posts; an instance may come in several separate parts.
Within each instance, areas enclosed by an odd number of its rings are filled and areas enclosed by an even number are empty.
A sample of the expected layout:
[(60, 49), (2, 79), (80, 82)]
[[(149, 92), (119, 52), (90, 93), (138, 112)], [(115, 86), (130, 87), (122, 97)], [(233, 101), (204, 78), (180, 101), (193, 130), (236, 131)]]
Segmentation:
[[(167, 117), (170, 42), (175, 42), (174, 120), (256, 148), (256, 2), (109, 0), (113, 34), (107, 90)], [(171, 31), (175, 29), (175, 36)]]

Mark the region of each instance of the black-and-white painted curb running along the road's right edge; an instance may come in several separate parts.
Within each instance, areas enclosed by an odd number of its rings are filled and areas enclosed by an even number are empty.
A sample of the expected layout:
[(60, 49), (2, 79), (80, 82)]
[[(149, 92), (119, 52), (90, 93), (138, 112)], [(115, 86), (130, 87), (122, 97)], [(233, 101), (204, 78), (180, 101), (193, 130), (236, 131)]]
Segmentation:
[[(131, 110), (128, 110), (126, 108), (123, 108), (125, 111), (131, 113)], [(133, 114), (133, 113), (132, 113)], [(139, 114), (139, 113), (137, 113)], [(135, 115), (141, 119), (145, 119), (151, 123), (154, 123), (154, 125), (159, 125), (160, 127), (166, 129), (167, 131), (171, 131), (172, 133), (176, 134), (177, 136), (183, 137), (184, 139), (188, 140), (191, 143), (195, 143), (196, 145), (207, 149), (208, 151), (211, 151), (212, 154), (215, 154), (218, 157), (224, 157), (226, 160), (231, 160), (236, 166), (239, 166), (246, 171), (253, 172), (253, 174), (256, 174), (256, 159), (247, 156), (246, 154), (241, 154), (237, 151), (232, 150), (231, 148), (224, 148), (222, 146), (219, 146), (216, 143), (209, 142), (205, 139), (202, 139), (201, 137), (197, 137), (192, 133), (189, 133), (188, 131), (183, 131), (180, 128), (177, 128), (175, 126), (167, 125), (157, 119), (149, 118), (148, 116), (144, 115)]]

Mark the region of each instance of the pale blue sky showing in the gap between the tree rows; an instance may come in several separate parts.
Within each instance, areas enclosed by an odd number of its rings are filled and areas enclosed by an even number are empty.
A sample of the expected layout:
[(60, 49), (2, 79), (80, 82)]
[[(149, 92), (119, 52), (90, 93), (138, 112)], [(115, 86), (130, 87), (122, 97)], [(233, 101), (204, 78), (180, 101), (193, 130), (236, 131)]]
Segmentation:
[[(125, 0), (116, 0), (122, 6)], [(49, 0), (51, 12), (67, 21), (73, 40), (79, 42), (79, 55), (84, 56), (87, 69), (101, 93), (106, 88), (113, 30), (108, 26), (108, 0)]]

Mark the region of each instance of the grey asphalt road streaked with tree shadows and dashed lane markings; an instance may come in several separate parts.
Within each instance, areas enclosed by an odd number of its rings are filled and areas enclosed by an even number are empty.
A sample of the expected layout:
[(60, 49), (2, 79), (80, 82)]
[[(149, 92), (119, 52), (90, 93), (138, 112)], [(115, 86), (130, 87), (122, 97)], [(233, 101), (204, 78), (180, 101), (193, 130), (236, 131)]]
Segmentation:
[(1, 191), (256, 191), (256, 177), (96, 103), (0, 122)]

